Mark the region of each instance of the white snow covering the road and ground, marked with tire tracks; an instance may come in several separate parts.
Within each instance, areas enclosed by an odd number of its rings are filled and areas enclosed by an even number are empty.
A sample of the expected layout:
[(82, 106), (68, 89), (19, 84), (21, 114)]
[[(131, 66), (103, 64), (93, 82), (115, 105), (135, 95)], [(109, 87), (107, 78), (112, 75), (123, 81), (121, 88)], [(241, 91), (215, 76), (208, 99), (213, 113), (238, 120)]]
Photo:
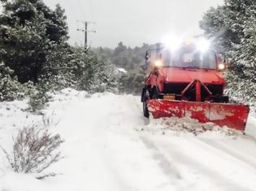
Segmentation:
[[(41, 123), (24, 101), (0, 104), (0, 145), (11, 150), (17, 129)], [(0, 191), (255, 190), (256, 119), (247, 135), (214, 129), (195, 136), (173, 121), (145, 121), (136, 96), (62, 91), (47, 108), (49, 129), (66, 142), (64, 159), (37, 180), (11, 172), (0, 152)], [(188, 121), (181, 121), (184, 125)], [(174, 129), (168, 129), (171, 124)]]

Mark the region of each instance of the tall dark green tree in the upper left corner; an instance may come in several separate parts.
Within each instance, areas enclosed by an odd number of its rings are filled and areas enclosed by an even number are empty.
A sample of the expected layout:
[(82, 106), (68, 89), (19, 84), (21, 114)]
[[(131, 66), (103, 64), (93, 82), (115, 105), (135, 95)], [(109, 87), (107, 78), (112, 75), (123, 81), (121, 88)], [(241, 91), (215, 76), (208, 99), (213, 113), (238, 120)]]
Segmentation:
[(37, 82), (49, 50), (68, 39), (64, 11), (41, 0), (3, 1), (2, 7), (0, 60), (21, 83)]

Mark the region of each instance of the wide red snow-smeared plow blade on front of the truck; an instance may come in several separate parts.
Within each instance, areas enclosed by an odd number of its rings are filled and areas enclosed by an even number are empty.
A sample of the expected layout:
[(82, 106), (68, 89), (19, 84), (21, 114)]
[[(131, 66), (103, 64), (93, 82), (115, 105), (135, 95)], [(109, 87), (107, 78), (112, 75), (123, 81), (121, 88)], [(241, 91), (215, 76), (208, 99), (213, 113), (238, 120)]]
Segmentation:
[(245, 131), (249, 106), (174, 100), (148, 100), (149, 111), (154, 118), (190, 117), (201, 123), (212, 122), (220, 127)]

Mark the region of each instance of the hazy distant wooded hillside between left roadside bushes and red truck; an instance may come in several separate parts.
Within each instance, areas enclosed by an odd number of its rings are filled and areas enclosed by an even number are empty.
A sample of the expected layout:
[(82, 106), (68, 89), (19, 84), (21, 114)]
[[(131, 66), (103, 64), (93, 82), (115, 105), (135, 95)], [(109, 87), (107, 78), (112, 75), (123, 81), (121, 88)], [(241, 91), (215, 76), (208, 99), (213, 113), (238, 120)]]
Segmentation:
[(95, 53), (104, 53), (119, 71), (117, 78), (119, 93), (140, 95), (143, 82), (148, 74), (148, 70), (143, 69), (143, 66), (145, 66), (145, 52), (152, 48), (154, 48), (154, 45), (144, 44), (132, 49), (124, 45), (123, 42), (119, 42), (115, 49), (98, 48), (93, 50)]

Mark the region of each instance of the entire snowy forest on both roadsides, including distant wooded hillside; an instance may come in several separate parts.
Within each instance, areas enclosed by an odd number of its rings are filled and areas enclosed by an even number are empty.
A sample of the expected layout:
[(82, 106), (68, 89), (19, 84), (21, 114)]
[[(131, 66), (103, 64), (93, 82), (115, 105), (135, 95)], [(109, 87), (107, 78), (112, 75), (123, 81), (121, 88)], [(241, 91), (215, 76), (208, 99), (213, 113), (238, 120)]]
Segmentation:
[[(145, 51), (152, 45), (115, 49), (73, 47), (67, 43), (67, 17), (41, 0), (1, 0), (0, 101), (30, 97), (33, 110), (47, 102), (47, 91), (65, 87), (89, 92), (139, 95), (147, 72)], [(204, 35), (228, 57), (228, 94), (256, 102), (256, 2), (225, 0), (200, 22)], [(119, 70), (119, 68), (126, 70)]]

